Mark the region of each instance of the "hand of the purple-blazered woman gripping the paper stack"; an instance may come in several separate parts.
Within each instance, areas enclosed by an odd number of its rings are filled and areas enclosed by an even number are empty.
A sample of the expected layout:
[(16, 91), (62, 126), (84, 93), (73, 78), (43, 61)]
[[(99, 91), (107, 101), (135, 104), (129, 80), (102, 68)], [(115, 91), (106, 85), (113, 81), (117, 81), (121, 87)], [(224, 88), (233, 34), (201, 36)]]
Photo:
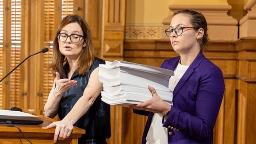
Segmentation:
[(170, 104), (164, 102), (159, 97), (155, 88), (148, 86), (148, 89), (151, 91), (153, 98), (146, 102), (133, 106), (133, 108), (138, 110), (151, 111), (154, 113), (162, 113), (163, 115), (165, 115), (171, 108)]

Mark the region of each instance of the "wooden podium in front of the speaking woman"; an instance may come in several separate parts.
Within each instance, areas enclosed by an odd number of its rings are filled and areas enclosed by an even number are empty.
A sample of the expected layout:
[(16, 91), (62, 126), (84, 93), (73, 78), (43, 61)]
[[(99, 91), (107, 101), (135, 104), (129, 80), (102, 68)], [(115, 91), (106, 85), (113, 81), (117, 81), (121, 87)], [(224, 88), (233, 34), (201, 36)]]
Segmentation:
[[(34, 143), (53, 143), (53, 137), (55, 128), (46, 129), (46, 126), (54, 122), (52, 118), (48, 118), (42, 115), (35, 114), (30, 111), (23, 111), (33, 115), (38, 116), (44, 121), (40, 125), (16, 125), (24, 133), (24, 135), (34, 144)], [(69, 138), (65, 140), (58, 140), (56, 143), (72, 143), (77, 144), (78, 138), (84, 134), (86, 130), (74, 127), (72, 134)], [(4, 124), (0, 124), (0, 144), (11, 144), (11, 143), (30, 143), (23, 134), (16, 127), (8, 127)]]

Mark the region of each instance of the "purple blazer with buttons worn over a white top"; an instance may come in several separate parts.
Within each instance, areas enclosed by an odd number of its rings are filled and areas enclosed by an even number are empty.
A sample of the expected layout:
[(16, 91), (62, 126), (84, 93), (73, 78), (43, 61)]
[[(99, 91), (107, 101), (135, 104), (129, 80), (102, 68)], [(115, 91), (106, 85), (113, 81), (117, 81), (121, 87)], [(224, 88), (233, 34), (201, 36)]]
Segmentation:
[[(180, 57), (165, 60), (161, 67), (174, 70)], [(173, 106), (163, 127), (168, 143), (213, 143), (213, 129), (224, 93), (222, 71), (202, 52), (186, 70), (173, 91)], [(142, 143), (150, 128), (153, 112), (134, 110), (147, 115)]]

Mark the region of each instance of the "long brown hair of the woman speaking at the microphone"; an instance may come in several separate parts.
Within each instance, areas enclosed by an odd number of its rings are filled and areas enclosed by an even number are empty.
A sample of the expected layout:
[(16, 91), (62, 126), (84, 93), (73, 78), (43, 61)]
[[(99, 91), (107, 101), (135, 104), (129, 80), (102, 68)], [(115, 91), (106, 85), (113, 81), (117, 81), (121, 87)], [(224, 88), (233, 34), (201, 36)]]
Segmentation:
[(65, 77), (65, 73), (68, 73), (70, 70), (67, 58), (59, 51), (57, 35), (58, 33), (60, 33), (63, 27), (65, 27), (69, 23), (74, 22), (78, 23), (78, 25), (81, 27), (83, 32), (83, 42), (86, 43), (86, 46), (82, 48), (82, 51), (79, 55), (78, 65), (76, 67), (76, 71), (79, 73), (80, 76), (85, 76), (88, 73), (95, 59), (91, 34), (87, 22), (78, 15), (68, 15), (61, 20), (53, 41), (53, 62), (50, 65), (50, 68), (52, 68), (52, 74), (54, 77), (56, 77), (55, 73), (58, 72), (60, 74), (60, 77), (63, 78)]

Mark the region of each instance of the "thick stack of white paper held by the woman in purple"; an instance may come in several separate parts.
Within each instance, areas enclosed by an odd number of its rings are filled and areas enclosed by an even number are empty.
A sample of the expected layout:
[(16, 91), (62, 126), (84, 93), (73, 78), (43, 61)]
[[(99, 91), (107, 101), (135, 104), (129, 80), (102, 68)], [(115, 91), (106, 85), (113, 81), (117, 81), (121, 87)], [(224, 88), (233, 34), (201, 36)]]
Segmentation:
[(152, 98), (147, 86), (154, 87), (164, 101), (171, 103), (173, 94), (168, 89), (172, 70), (126, 61), (99, 65), (99, 80), (103, 83), (101, 100), (110, 105), (128, 106)]

